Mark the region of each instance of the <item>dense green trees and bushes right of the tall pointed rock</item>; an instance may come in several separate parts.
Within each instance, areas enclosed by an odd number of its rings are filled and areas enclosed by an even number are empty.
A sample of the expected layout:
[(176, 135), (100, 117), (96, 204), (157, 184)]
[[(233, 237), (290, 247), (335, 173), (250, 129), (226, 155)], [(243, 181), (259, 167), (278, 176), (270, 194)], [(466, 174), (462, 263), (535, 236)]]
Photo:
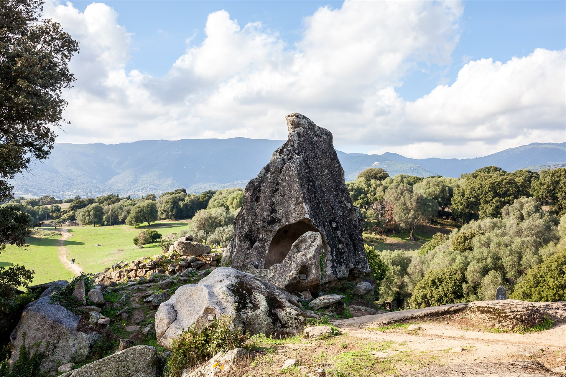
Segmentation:
[(389, 177), (367, 170), (346, 183), (378, 235), (414, 231), (443, 216), (462, 225), (417, 253), (366, 245), (379, 300), (425, 307), (511, 298), (566, 300), (566, 168), (506, 172), (487, 166), (459, 179)]

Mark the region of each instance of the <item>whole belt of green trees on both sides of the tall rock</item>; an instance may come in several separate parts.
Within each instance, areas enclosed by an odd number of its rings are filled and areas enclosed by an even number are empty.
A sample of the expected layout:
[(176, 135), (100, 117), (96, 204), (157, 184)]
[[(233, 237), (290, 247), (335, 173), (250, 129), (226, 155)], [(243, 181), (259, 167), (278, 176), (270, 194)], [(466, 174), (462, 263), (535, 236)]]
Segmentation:
[[(381, 302), (423, 307), (491, 300), (499, 285), (514, 298), (566, 300), (566, 266), (560, 262), (566, 258), (566, 168), (538, 173), (487, 166), (460, 178), (389, 177), (383, 169), (369, 168), (346, 186), (365, 218), (366, 237), (406, 231), (414, 240), (419, 226), (438, 217), (459, 227), (434, 235), (417, 253), (378, 252), (366, 245)], [(225, 247), (243, 190), (188, 194), (177, 189), (160, 197), (110, 194), (63, 202), (70, 202), (66, 210), (49, 196), (12, 199), (3, 206), (18, 206), (31, 223), (48, 218), (139, 226), (191, 219), (188, 229), (196, 241)], [(558, 277), (541, 284), (552, 271)]]

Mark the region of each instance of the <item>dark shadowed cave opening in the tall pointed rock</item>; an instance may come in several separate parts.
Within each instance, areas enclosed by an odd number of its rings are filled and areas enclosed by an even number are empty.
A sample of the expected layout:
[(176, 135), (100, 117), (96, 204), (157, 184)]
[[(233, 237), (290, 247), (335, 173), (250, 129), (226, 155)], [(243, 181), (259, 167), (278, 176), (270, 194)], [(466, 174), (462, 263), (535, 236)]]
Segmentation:
[(271, 239), (267, 255), (265, 255), (265, 263), (263, 268), (267, 270), (269, 267), (283, 262), (283, 259), (289, 254), (291, 246), (299, 237), (306, 232), (319, 232), (308, 219), (301, 220), (296, 223), (287, 224), (277, 229), (277, 233)]

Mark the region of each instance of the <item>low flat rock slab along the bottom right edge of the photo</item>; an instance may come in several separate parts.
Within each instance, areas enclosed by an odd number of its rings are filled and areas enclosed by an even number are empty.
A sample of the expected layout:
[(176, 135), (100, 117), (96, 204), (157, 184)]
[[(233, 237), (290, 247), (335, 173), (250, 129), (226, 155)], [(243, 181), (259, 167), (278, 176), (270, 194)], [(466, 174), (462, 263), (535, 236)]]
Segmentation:
[(554, 376), (550, 370), (537, 361), (478, 361), (433, 366), (401, 374), (402, 377), (546, 377)]

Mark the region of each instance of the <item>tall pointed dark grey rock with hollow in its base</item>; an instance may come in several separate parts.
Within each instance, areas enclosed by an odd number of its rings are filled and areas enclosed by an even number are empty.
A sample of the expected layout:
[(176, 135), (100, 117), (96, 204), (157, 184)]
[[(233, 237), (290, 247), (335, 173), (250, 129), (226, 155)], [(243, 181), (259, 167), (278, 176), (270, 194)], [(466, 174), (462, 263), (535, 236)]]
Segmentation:
[(286, 119), (289, 138), (248, 183), (223, 265), (242, 271), (250, 264), (283, 266), (299, 237), (319, 232), (324, 283), (369, 271), (362, 214), (344, 183), (332, 133), (301, 114)]

